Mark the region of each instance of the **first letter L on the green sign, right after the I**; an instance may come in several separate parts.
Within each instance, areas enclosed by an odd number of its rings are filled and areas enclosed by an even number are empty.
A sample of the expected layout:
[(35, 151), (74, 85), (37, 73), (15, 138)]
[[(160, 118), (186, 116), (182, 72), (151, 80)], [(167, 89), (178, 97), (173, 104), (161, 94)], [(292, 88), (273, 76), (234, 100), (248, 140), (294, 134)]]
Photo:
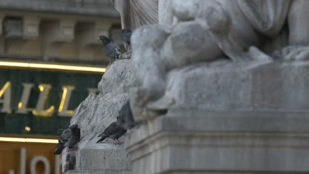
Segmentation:
[(50, 84), (39, 84), (40, 95), (37, 102), (36, 109), (32, 113), (36, 116), (51, 117), (54, 113), (54, 106), (50, 106), (48, 109), (44, 110), (45, 102), (48, 98), (49, 90), (51, 89)]

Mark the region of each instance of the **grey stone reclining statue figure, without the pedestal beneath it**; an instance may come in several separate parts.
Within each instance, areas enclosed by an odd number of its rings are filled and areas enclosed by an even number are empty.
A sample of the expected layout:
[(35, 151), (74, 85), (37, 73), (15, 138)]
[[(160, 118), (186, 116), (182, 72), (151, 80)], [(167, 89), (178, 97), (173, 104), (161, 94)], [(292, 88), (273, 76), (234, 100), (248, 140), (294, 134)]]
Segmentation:
[[(127, 2), (128, 6), (134, 2)], [(172, 23), (143, 25), (131, 38), (133, 71), (139, 84), (131, 90), (134, 115), (146, 120), (173, 105), (175, 98), (169, 97), (166, 91), (172, 79), (170, 72), (175, 69), (222, 59), (229, 60), (224, 64), (257, 64), (275, 57), (306, 59), (309, 53), (307, 7), (308, 1), (289, 0), (171, 1), (171, 14), (166, 16), (173, 18)]]

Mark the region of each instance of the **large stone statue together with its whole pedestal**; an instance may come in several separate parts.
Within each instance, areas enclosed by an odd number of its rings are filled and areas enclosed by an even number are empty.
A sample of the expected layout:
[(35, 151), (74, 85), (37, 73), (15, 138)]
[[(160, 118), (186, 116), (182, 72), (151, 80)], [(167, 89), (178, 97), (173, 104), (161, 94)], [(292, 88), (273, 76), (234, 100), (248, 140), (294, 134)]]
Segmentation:
[(133, 173), (309, 171), (309, 1), (124, 1)]

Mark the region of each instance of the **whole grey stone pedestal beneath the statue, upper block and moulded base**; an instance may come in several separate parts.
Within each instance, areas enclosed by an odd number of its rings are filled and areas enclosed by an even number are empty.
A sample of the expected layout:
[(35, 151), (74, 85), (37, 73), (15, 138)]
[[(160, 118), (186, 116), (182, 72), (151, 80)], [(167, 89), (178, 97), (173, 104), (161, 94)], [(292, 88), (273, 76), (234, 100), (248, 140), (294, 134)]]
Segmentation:
[(127, 139), (133, 173), (309, 173), (308, 70), (306, 61), (174, 70), (167, 114)]

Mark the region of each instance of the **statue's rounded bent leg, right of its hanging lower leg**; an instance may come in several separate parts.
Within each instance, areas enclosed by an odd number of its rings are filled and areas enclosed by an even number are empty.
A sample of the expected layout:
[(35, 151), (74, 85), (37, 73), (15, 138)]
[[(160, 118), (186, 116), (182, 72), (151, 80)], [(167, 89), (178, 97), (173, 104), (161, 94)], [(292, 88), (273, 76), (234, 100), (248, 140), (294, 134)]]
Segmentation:
[(207, 29), (197, 21), (177, 24), (162, 49), (162, 62), (168, 69), (223, 56), (223, 52), (211, 39)]

